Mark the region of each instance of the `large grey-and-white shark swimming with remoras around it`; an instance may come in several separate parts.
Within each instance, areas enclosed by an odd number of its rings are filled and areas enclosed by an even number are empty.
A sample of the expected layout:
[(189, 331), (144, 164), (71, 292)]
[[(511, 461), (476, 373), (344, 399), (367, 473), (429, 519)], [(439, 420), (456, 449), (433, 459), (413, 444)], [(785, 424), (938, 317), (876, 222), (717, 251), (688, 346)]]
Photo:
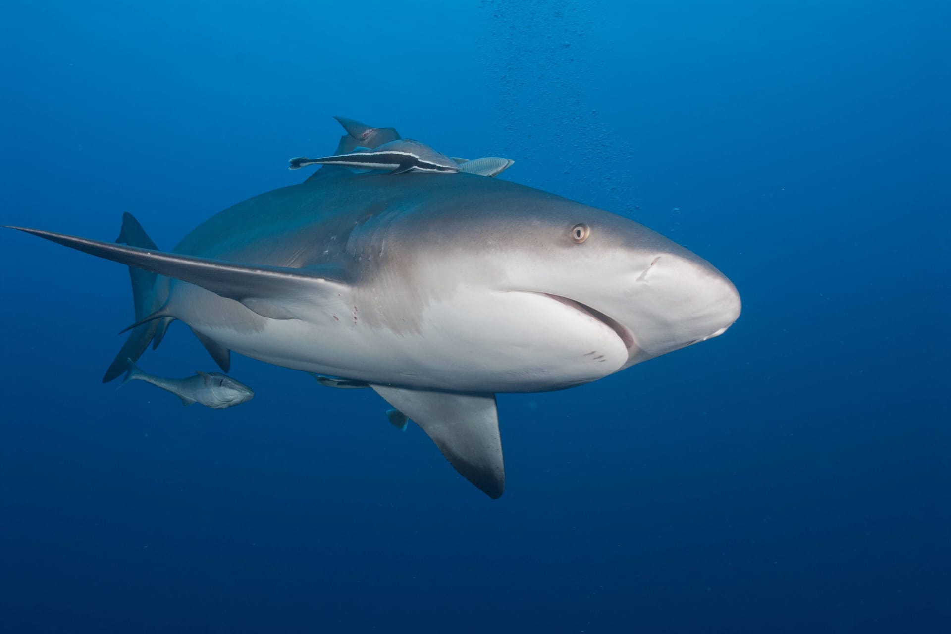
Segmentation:
[[(339, 153), (361, 144), (351, 128), (398, 138), (345, 121)], [(726, 276), (649, 228), (464, 172), (322, 167), (170, 251), (128, 214), (117, 242), (10, 228), (129, 266), (137, 321), (104, 381), (179, 319), (223, 372), (234, 351), (369, 385), (492, 498), (505, 488), (495, 394), (590, 383), (740, 315)]]

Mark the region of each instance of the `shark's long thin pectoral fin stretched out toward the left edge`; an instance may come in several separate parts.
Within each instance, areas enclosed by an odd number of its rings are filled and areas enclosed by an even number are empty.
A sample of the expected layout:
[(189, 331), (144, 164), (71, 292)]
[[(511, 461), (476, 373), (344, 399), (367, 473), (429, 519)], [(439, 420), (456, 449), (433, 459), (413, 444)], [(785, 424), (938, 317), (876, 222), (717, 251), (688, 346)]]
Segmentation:
[[(8, 228), (39, 236), (98, 258), (111, 259), (168, 278), (181, 279), (223, 298), (240, 301), (263, 317), (301, 318), (315, 306), (340, 303), (340, 294), (349, 291), (343, 270), (332, 264), (306, 269), (241, 264), (89, 240), (39, 229)], [(123, 359), (125, 358), (124, 356)]]

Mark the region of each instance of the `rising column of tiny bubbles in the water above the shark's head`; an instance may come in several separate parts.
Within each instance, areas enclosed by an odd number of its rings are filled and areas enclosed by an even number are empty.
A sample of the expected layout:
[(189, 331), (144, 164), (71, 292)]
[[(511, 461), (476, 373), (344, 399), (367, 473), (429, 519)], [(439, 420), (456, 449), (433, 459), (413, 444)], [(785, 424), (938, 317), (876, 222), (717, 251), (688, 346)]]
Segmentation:
[(480, 43), (497, 96), (495, 151), (520, 165), (520, 182), (629, 216), (634, 212), (630, 139), (598, 114), (609, 94), (592, 70), (610, 64), (590, 34), (604, 13), (570, 0), (483, 0), (490, 36)]

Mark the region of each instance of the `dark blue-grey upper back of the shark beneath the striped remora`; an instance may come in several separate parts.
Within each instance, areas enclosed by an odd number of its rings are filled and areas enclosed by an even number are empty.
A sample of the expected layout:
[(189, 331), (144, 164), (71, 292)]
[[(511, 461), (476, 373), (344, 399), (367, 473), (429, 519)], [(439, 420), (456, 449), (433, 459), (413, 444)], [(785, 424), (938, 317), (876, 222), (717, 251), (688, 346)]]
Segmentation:
[(223, 210), (185, 236), (174, 252), (302, 268), (340, 261), (354, 227), (384, 213), (393, 218), (426, 215), (437, 225), (452, 215), (485, 214), (487, 200), (498, 202), (500, 215), (512, 201), (576, 204), (524, 185), (469, 174), (333, 171)]

